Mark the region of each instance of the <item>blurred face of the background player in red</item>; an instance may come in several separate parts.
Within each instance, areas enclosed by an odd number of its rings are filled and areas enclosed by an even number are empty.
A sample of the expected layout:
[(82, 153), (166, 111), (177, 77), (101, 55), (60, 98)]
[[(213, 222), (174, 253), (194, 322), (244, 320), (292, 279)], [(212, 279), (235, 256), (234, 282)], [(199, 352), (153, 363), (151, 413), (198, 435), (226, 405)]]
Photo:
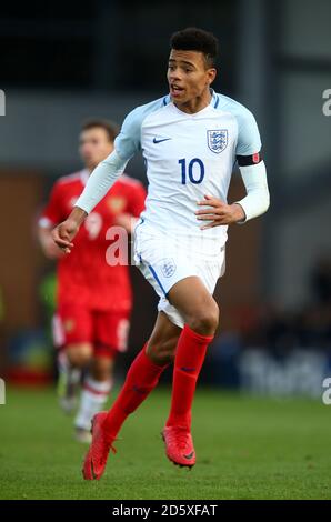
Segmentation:
[(94, 169), (113, 150), (107, 131), (102, 127), (86, 129), (79, 137), (79, 153), (88, 169)]

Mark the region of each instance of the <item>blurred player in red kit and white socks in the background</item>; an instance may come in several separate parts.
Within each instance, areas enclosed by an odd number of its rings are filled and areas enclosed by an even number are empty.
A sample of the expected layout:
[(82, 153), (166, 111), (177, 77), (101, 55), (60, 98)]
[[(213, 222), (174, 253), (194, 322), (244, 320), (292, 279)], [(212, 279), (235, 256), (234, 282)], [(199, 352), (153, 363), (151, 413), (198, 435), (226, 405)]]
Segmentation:
[[(114, 358), (127, 348), (132, 305), (128, 263), (110, 265), (107, 251), (116, 245), (117, 231), (124, 232), (124, 239), (126, 232), (131, 232), (144, 208), (144, 188), (128, 175), (121, 177), (86, 220), (70, 255), (56, 245), (51, 230), (71, 211), (92, 170), (112, 152), (117, 133), (117, 126), (107, 120), (89, 120), (82, 126), (79, 152), (84, 168), (54, 183), (39, 219), (43, 253), (58, 260), (53, 337), (60, 349), (58, 392), (67, 412), (76, 405), (81, 370), (88, 367), (74, 420), (76, 438), (81, 442), (90, 441), (91, 419), (112, 387)], [(111, 227), (121, 229), (111, 229), (108, 235)]]

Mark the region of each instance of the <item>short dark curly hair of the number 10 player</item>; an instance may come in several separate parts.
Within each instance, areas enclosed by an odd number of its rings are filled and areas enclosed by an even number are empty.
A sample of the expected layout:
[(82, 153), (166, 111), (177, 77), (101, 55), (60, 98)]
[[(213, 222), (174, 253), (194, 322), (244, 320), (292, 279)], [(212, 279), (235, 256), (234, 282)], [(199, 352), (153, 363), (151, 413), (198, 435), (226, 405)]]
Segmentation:
[(188, 27), (171, 36), (170, 46), (177, 51), (200, 51), (204, 54), (208, 67), (215, 66), (219, 41), (212, 32)]

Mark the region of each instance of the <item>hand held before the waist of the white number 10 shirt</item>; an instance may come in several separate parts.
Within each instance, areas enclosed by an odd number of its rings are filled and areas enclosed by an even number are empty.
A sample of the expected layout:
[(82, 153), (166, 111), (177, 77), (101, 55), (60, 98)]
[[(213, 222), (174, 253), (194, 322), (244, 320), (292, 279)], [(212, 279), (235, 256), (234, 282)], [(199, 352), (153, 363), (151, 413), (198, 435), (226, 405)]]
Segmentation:
[(242, 207), (238, 203), (228, 204), (218, 198), (205, 194), (203, 201), (198, 201), (199, 207), (208, 207), (197, 210), (198, 220), (209, 221), (200, 227), (201, 230), (220, 227), (221, 224), (238, 223), (244, 220), (245, 214)]

